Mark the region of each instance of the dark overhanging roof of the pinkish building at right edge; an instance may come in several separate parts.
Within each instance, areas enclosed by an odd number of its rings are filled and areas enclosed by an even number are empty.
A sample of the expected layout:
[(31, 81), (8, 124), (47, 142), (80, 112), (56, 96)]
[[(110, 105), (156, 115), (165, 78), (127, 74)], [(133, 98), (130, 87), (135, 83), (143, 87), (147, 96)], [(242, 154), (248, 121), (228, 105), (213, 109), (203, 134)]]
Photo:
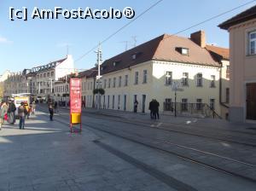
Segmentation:
[(254, 5), (250, 9), (241, 12), (241, 14), (236, 14), (236, 16), (232, 17), (230, 20), (226, 20), (223, 23), (219, 24), (218, 27), (228, 30), (230, 26), (234, 26), (241, 22), (253, 19), (256, 19), (256, 5)]

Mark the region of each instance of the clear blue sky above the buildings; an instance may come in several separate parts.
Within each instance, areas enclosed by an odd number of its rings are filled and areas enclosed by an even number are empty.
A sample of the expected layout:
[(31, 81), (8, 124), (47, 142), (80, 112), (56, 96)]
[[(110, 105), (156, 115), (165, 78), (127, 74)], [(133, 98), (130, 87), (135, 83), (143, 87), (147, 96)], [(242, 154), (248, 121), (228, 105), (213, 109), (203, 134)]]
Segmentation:
[[(132, 7), (136, 14), (140, 14), (157, 0), (1, 0), (0, 3), (0, 73), (9, 69), (14, 72), (24, 68), (32, 68), (49, 61), (61, 59), (69, 53), (74, 60), (84, 52), (94, 47), (99, 41), (107, 38), (130, 20), (9, 20), (9, 7), (20, 9), (26, 7), (29, 11), (37, 6), (39, 9), (77, 9), (89, 6), (92, 9), (123, 9)], [(175, 33), (183, 28), (192, 26), (216, 14), (235, 8), (249, 0), (164, 0), (143, 17), (133, 22), (125, 30), (119, 32), (108, 42), (102, 44), (103, 60), (117, 55), (125, 50), (123, 41), (131, 41), (137, 36), (137, 44), (144, 43), (163, 33)], [(201, 26), (180, 33), (179, 36), (189, 37), (191, 32), (205, 30), (207, 43), (216, 43), (222, 47), (229, 46), (228, 32), (218, 28), (218, 24), (235, 14), (252, 7), (251, 3), (241, 9), (225, 14), (218, 19), (211, 20)], [(131, 48), (131, 43), (128, 48)], [(75, 63), (77, 68), (90, 68), (96, 63), (94, 52)]]

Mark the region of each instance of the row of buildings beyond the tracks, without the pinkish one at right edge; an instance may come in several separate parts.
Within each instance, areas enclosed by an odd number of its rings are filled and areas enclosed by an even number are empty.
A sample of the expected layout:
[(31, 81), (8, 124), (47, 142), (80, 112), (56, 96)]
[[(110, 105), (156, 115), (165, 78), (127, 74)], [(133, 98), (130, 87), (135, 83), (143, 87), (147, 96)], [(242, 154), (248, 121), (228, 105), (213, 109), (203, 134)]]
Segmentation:
[[(86, 107), (96, 107), (96, 88), (105, 92), (100, 107), (148, 113), (152, 99), (160, 102), (160, 111), (173, 113), (175, 91), (177, 111), (205, 114), (205, 110), (227, 115), (229, 104), (229, 49), (207, 45), (203, 31), (190, 38), (161, 35), (104, 61), (100, 67), (101, 84), (97, 84), (97, 67), (79, 72), (82, 100)], [(70, 74), (74, 73), (71, 55), (60, 61), (20, 73), (11, 73), (4, 83), (4, 96), (32, 93), (36, 96), (68, 101)]]

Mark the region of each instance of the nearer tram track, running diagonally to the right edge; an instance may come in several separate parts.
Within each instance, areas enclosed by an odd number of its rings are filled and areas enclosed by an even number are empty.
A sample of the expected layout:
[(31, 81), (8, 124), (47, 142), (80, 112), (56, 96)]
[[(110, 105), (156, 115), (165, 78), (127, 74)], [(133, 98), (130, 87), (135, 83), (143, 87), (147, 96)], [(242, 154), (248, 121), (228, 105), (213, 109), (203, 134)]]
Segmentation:
[[(63, 116), (58, 116), (58, 117), (60, 117), (61, 119), (67, 119)], [(60, 119), (55, 118), (55, 120), (57, 122), (61, 123), (61, 124), (65, 124), (65, 125), (68, 124), (68, 122), (65, 122), (65, 121), (60, 120)], [(99, 125), (100, 125), (100, 127), (99, 127)], [(201, 154), (204, 154), (205, 156), (208, 156), (208, 157), (210, 156), (211, 159), (216, 158), (216, 159), (219, 159), (220, 161), (226, 160), (226, 161), (228, 161), (230, 163), (233, 163), (233, 164), (234, 163), (239, 164), (240, 167), (242, 167), (242, 166), (245, 167), (246, 166), (247, 168), (251, 168), (251, 169), (255, 170), (255, 165), (249, 164), (247, 162), (239, 161), (239, 160), (236, 160), (236, 159), (231, 159), (231, 158), (224, 157), (224, 156), (221, 156), (221, 155), (218, 155), (218, 154), (215, 154), (215, 153), (205, 152), (205, 151), (195, 149), (195, 148), (185, 147), (183, 145), (179, 145), (179, 144), (176, 144), (176, 143), (173, 143), (173, 142), (167, 142), (166, 140), (152, 139), (152, 138), (148, 138), (148, 137), (143, 137), (140, 134), (131, 133), (131, 131), (127, 131), (127, 130), (116, 130), (116, 129), (113, 130), (113, 127), (109, 127), (106, 124), (96, 124), (96, 123), (90, 122), (90, 124), (86, 124), (85, 127), (89, 130), (98, 130), (98, 131), (107, 133), (108, 135), (111, 135), (111, 136), (116, 136), (116, 137), (125, 139), (125, 140), (130, 141), (130, 142), (136, 142), (137, 144), (143, 145), (143, 146), (148, 147), (148, 148), (157, 149), (157, 150), (160, 150), (162, 152), (175, 155), (180, 159), (187, 160), (187, 161), (192, 162), (194, 164), (203, 165), (203, 166), (205, 166), (209, 169), (212, 169), (213, 171), (220, 171), (220, 172), (223, 172), (223, 173), (231, 175), (231, 176), (241, 177), (241, 178), (246, 179), (247, 181), (250, 181), (250, 182), (254, 182), (254, 183), (256, 182), (256, 178), (252, 177), (252, 176), (249, 176), (247, 173), (241, 173), (241, 172), (238, 173), (238, 172), (236, 172), (232, 169), (225, 168), (225, 166), (216, 165), (216, 164), (212, 164), (212, 163), (207, 163), (206, 161), (203, 161), (204, 159), (200, 159), (200, 158), (196, 159), (196, 157), (193, 157), (193, 154), (189, 156), (189, 154), (186, 154), (186, 152), (189, 150), (189, 152), (192, 152), (192, 153), (193, 152), (194, 153), (201, 153)], [(165, 145), (163, 146), (163, 144), (165, 144)], [(179, 148), (179, 150), (178, 149), (174, 149), (174, 150), (170, 149), (170, 145), (176, 146), (177, 148)]]

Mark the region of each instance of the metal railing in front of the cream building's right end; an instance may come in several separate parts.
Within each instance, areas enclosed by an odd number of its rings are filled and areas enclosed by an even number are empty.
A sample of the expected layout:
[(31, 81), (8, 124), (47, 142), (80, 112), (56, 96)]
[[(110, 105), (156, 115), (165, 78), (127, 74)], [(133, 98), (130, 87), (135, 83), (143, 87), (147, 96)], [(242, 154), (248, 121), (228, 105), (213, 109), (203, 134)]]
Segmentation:
[[(175, 102), (164, 102), (164, 112), (175, 113)], [(207, 118), (221, 119), (221, 117), (207, 103), (176, 103), (176, 113), (201, 114)]]

